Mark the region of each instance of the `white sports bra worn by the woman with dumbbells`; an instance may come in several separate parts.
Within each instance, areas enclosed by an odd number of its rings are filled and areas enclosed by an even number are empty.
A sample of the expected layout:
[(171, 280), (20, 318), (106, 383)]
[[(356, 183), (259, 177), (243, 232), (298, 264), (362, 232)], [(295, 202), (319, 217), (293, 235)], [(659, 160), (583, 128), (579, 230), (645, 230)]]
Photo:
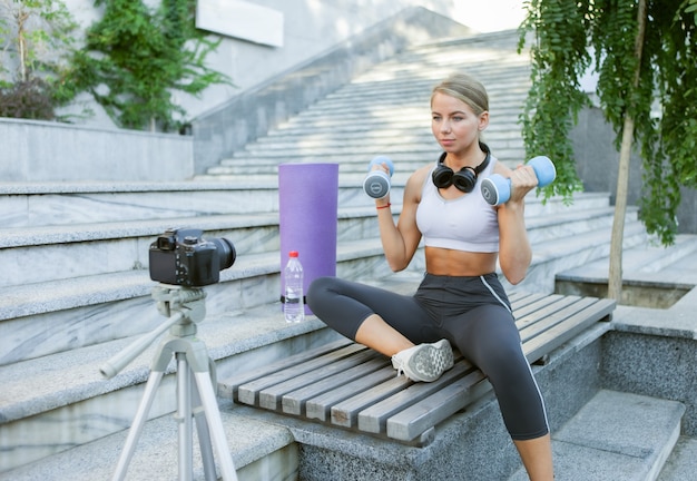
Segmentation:
[[(416, 226), (426, 246), (455, 251), (499, 252), (499, 218), (497, 210), (484, 200), (481, 180), (493, 171), (497, 158), (491, 156), (487, 168), (478, 176), (474, 189), (454, 199), (445, 199), (426, 176), (416, 207)], [(438, 163), (433, 168), (438, 166)]]

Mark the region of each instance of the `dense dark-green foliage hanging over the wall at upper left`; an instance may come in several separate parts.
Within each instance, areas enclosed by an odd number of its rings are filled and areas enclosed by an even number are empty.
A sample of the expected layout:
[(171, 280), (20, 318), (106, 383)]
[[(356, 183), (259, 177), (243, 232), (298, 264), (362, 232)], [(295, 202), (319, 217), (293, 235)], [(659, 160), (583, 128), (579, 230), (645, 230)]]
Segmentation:
[(176, 90), (200, 95), (229, 79), (205, 63), (219, 41), (195, 27), (195, 0), (163, 0), (148, 8), (140, 0), (96, 0), (102, 18), (75, 57), (80, 86), (89, 90), (120, 126), (176, 130), (186, 111)]

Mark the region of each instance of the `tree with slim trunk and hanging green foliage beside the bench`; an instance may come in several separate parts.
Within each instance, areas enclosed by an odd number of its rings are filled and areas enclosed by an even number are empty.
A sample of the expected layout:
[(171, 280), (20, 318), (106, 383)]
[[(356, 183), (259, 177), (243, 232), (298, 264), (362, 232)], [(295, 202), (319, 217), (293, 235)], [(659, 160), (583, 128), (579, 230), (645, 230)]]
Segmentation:
[(526, 9), (519, 47), (532, 32), (533, 85), (523, 138), (529, 155), (551, 153), (561, 173), (546, 196), (580, 186), (568, 134), (589, 104), (580, 77), (598, 72), (620, 151), (609, 272), (609, 296), (619, 300), (631, 149), (642, 158), (639, 217), (662, 244), (675, 240), (680, 187), (697, 187), (697, 1), (529, 0)]

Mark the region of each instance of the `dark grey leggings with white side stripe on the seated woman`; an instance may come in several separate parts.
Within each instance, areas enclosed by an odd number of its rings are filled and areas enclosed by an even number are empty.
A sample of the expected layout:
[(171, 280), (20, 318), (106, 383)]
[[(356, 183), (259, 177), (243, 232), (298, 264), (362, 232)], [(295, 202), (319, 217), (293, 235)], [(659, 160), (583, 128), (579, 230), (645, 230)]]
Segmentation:
[(549, 433), (542, 395), (495, 274), (426, 274), (413, 296), (321, 277), (307, 289), (307, 304), (326, 325), (354, 341), (359, 327), (372, 314), (380, 315), (414, 344), (446, 338), (489, 377), (513, 440)]

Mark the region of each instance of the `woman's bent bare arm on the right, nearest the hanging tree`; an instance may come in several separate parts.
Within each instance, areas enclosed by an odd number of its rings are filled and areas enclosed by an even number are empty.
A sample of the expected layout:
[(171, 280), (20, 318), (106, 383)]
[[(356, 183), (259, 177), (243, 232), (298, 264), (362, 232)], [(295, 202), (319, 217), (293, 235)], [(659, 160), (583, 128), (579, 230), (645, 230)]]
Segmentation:
[(511, 284), (526, 278), (532, 262), (532, 248), (526, 228), (524, 197), (538, 185), (534, 170), (521, 166), (510, 171), (511, 198), (498, 207), (499, 216), (499, 264)]

